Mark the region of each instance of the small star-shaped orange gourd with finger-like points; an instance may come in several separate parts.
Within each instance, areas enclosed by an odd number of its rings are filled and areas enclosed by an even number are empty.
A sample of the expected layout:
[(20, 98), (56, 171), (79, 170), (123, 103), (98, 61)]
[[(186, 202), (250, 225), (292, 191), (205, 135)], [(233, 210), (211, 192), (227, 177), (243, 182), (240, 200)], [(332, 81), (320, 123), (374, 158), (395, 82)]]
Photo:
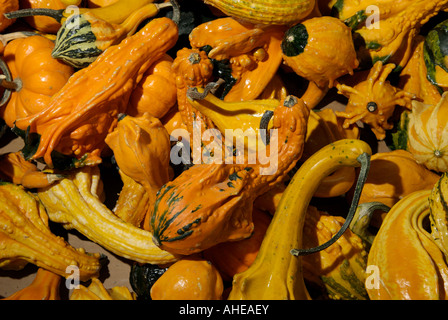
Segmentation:
[(395, 87), (387, 80), (394, 68), (392, 63), (383, 65), (378, 61), (366, 80), (354, 87), (337, 85), (338, 92), (349, 99), (345, 111), (336, 112), (338, 116), (345, 118), (345, 128), (362, 121), (370, 126), (378, 140), (382, 140), (386, 137), (386, 130), (393, 128), (389, 119), (395, 107), (399, 105), (411, 109), (411, 101), (415, 99), (415, 95)]

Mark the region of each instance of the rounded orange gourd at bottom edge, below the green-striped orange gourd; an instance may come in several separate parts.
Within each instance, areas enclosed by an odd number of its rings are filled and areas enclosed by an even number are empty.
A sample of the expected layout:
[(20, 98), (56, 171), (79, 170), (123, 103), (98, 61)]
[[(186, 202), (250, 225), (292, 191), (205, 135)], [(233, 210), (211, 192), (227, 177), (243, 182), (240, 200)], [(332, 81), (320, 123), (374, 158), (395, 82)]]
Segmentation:
[(203, 259), (183, 258), (151, 287), (153, 300), (220, 300), (224, 290), (218, 270)]

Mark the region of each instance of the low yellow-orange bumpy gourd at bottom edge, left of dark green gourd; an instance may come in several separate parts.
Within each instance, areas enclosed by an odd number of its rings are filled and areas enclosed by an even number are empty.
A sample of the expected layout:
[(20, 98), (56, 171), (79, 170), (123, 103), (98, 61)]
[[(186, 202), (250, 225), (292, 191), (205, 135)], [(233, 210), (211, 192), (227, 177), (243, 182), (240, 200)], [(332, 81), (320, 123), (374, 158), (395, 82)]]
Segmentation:
[(115, 286), (106, 289), (104, 284), (93, 278), (89, 286), (79, 285), (73, 289), (70, 300), (135, 300), (136, 295), (125, 286)]

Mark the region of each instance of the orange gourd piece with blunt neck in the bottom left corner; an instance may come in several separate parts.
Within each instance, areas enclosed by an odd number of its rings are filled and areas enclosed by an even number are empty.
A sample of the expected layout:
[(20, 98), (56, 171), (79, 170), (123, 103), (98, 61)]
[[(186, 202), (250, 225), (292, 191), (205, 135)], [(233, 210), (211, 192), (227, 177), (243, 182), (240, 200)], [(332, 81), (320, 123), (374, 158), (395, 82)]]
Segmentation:
[(2, 300), (60, 300), (61, 280), (60, 275), (39, 268), (30, 285)]

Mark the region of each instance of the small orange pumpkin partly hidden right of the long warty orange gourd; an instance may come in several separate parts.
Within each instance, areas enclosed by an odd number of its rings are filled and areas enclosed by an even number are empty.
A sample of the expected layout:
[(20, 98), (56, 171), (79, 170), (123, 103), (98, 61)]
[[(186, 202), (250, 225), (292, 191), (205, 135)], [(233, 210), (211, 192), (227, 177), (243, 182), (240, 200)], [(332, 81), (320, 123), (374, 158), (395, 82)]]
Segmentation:
[(177, 102), (176, 79), (171, 72), (173, 58), (165, 54), (144, 74), (132, 91), (126, 114), (143, 115), (147, 112), (161, 119)]

